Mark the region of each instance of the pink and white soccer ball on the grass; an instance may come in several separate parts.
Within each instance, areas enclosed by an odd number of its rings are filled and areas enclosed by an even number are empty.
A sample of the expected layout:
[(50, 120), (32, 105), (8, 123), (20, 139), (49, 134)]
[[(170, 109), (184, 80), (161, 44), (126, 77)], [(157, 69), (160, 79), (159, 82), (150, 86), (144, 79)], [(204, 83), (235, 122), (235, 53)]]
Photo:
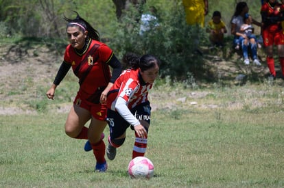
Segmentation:
[(154, 165), (147, 157), (135, 157), (128, 165), (128, 174), (132, 178), (150, 179), (154, 175)]

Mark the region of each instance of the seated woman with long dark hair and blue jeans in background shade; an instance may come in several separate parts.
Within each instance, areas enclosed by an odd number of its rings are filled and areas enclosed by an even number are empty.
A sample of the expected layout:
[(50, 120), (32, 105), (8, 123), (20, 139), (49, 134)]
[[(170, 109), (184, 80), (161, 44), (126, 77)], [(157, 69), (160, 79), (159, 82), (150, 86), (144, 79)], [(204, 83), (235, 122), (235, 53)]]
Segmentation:
[[(248, 42), (248, 39), (246, 36), (244, 36), (244, 33), (241, 33), (241, 25), (244, 24), (244, 17), (246, 14), (248, 14), (248, 5), (246, 2), (241, 1), (237, 3), (237, 6), (235, 8), (235, 13), (233, 14), (233, 17), (230, 21), (231, 27), (230, 32), (234, 35), (234, 45), (237, 47), (237, 44), (241, 45), (241, 51), (244, 56), (244, 64), (248, 65), (250, 64), (250, 60), (248, 59), (248, 46), (250, 46), (250, 50), (252, 52), (252, 59), (253, 64), (259, 65), (259, 59), (257, 59), (257, 42), (251, 41)], [(252, 20), (253, 21), (253, 20)], [(257, 23), (256, 21), (253, 21), (254, 23)], [(260, 25), (260, 23), (257, 23)]]

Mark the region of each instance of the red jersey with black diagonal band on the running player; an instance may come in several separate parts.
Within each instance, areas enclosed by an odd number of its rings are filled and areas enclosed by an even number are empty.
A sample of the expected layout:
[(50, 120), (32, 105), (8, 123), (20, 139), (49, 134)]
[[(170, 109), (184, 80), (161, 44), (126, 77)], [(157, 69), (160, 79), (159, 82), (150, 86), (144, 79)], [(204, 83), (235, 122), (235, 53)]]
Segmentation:
[(105, 87), (110, 81), (108, 62), (113, 51), (106, 44), (89, 40), (81, 54), (71, 44), (66, 48), (64, 62), (71, 64), (74, 74), (79, 78), (80, 91), (93, 94), (97, 88)]

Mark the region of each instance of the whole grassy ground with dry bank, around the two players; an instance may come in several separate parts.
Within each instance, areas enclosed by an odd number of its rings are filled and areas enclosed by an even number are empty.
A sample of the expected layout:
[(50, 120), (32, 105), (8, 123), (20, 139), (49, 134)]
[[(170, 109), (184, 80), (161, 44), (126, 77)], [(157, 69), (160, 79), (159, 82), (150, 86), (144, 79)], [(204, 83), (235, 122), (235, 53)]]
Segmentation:
[[(7, 44), (0, 49), (9, 52), (0, 59), (0, 187), (284, 187), (284, 81), (268, 81), (264, 62), (207, 55), (215, 83), (158, 79), (145, 155), (155, 175), (135, 180), (127, 174), (132, 131), (106, 173), (93, 172), (84, 140), (65, 135), (78, 80), (70, 71), (55, 100), (45, 96), (62, 54), (34, 48), (38, 56), (27, 51), (21, 59)], [(245, 82), (235, 80), (239, 74)]]

